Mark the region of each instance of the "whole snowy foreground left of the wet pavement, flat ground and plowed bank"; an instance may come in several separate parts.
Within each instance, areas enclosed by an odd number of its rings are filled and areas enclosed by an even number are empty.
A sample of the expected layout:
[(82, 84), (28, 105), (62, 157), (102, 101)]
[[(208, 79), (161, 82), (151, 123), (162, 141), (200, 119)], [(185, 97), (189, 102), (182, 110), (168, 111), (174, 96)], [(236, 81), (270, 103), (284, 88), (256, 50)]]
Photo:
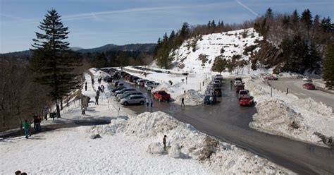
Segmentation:
[[(95, 77), (100, 74), (90, 71)], [(94, 100), (90, 76), (85, 78), (88, 90), (83, 92)], [(87, 115), (70, 104), (63, 119), (56, 121), (109, 119), (109, 125), (61, 128), (30, 139), (1, 140), (1, 174), (18, 169), (28, 174), (292, 174), (161, 111), (135, 115), (104, 95), (99, 105), (89, 104)], [(89, 138), (97, 133), (101, 138)], [(165, 134), (167, 151), (161, 144)]]

